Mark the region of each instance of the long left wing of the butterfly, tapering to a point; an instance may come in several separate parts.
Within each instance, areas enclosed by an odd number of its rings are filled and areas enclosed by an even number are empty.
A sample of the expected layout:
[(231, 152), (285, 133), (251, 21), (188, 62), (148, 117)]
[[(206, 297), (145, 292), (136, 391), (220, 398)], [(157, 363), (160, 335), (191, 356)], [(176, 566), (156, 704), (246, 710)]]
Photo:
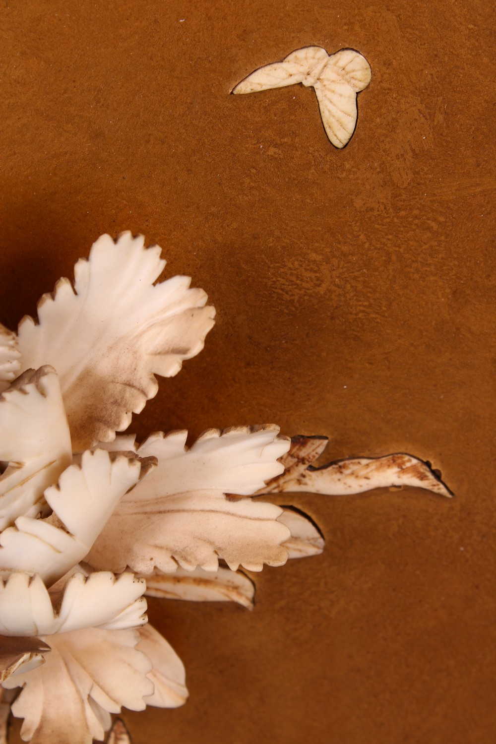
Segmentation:
[(297, 49), (288, 54), (282, 62), (273, 62), (271, 65), (258, 68), (238, 83), (232, 92), (234, 94), (255, 93), (271, 88), (292, 86), (294, 83), (303, 83), (312, 71), (326, 60), (329, 60), (329, 55), (321, 47)]

